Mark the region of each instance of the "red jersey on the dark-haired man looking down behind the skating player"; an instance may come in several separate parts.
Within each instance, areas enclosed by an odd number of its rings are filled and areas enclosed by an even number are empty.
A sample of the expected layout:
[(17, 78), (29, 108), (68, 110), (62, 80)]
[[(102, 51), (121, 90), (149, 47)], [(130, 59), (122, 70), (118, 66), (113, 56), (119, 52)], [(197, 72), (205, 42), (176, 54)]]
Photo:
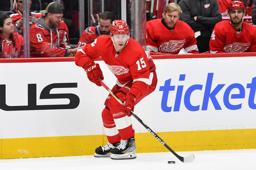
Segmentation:
[(77, 47), (85, 46), (86, 44), (91, 44), (98, 36), (101, 35), (99, 25), (96, 27), (88, 27), (82, 33)]

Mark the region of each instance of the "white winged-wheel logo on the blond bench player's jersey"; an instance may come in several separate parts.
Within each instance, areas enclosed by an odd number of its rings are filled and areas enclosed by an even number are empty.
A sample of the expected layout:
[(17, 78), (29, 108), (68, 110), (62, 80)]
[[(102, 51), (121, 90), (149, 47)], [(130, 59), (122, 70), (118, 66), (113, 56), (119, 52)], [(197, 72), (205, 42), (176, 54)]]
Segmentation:
[(186, 39), (181, 41), (170, 40), (168, 42), (164, 42), (159, 46), (159, 51), (161, 53), (173, 53), (181, 49), (182, 46), (185, 44), (185, 42), (186, 42)]

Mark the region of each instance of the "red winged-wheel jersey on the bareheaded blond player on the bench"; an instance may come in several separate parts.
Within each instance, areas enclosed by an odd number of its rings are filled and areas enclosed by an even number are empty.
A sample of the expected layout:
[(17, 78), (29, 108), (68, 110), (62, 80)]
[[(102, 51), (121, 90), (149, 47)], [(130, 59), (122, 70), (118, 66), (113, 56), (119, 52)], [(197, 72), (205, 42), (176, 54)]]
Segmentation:
[(168, 29), (162, 19), (153, 19), (146, 23), (146, 32), (147, 51), (178, 54), (184, 48), (188, 53), (199, 53), (195, 33), (183, 21), (178, 20), (174, 29)]

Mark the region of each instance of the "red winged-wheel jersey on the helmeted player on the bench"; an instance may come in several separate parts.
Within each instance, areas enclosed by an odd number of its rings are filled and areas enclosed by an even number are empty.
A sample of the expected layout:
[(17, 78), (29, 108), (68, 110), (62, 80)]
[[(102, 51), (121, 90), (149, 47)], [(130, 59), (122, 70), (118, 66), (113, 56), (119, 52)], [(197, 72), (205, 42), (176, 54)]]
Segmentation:
[(210, 39), (210, 53), (256, 52), (256, 29), (246, 22), (236, 31), (229, 20), (217, 23)]

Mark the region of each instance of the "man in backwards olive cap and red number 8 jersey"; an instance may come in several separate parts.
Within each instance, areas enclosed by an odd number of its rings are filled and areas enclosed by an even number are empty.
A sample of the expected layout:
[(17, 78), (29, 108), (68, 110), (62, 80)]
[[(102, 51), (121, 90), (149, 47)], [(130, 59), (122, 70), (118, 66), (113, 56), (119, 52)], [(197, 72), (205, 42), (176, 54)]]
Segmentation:
[(40, 12), (45, 16), (36, 19), (30, 28), (31, 57), (64, 57), (82, 48), (70, 49), (69, 31), (61, 20), (64, 7), (60, 3), (51, 2)]

